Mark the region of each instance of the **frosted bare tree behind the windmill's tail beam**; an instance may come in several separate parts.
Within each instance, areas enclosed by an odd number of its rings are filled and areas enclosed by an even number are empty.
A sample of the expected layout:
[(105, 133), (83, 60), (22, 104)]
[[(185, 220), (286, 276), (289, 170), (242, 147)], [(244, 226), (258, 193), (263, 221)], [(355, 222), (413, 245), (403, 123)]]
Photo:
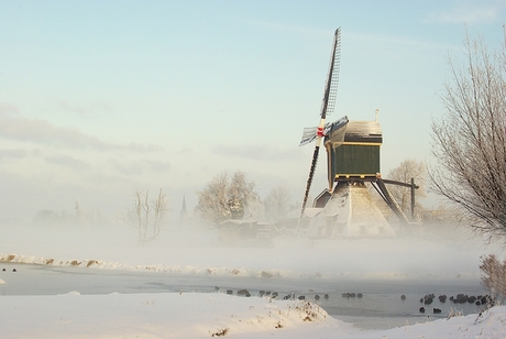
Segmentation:
[[(416, 197), (426, 197), (426, 165), (424, 162), (419, 162), (413, 158), (403, 161), (397, 167), (388, 173), (388, 178), (402, 182), (406, 184), (411, 183), (411, 178), (415, 179), (415, 184), (419, 187), (415, 190)], [(411, 188), (389, 185), (388, 190), (394, 196), (395, 200), (399, 205), (404, 212), (408, 212), (411, 209)], [(417, 207), (421, 208), (421, 205), (417, 201)]]

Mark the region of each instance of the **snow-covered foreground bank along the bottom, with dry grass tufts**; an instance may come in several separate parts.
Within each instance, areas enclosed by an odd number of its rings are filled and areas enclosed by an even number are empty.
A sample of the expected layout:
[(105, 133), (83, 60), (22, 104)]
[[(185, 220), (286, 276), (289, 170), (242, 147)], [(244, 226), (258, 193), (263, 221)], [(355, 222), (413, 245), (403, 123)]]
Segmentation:
[(2, 296), (2, 338), (506, 338), (506, 307), (362, 331), (308, 302), (224, 294)]

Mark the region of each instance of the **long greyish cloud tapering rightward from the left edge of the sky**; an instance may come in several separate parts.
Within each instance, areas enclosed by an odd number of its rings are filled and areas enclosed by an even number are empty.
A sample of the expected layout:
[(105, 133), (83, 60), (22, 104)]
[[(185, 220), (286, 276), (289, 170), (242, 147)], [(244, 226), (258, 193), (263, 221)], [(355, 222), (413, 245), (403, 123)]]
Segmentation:
[(0, 118), (0, 138), (34, 142), (37, 144), (63, 145), (70, 149), (94, 149), (98, 151), (125, 150), (131, 152), (157, 152), (157, 145), (131, 143), (120, 145), (87, 135), (76, 128), (55, 127), (46, 120), (30, 120), (26, 118)]

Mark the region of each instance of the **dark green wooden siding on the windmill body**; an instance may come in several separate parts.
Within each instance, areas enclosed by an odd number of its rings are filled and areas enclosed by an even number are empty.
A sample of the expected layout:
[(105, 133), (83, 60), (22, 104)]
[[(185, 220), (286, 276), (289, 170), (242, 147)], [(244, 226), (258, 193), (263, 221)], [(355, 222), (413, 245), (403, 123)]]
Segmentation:
[(380, 145), (341, 145), (332, 151), (332, 172), (336, 175), (366, 175), (380, 173)]

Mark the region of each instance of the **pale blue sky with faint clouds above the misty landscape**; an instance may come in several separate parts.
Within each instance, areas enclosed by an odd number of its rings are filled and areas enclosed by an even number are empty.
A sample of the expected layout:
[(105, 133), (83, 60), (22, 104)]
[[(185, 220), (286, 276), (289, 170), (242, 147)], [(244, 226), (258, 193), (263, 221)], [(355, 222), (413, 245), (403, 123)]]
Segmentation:
[(223, 171), (301, 201), (314, 149), (298, 142), (337, 28), (329, 119), (380, 110), (383, 174), (429, 162), (448, 56), (462, 59), (465, 30), (499, 47), (505, 14), (493, 0), (0, 1), (0, 220), (76, 201), (116, 215), (160, 188), (178, 215)]

